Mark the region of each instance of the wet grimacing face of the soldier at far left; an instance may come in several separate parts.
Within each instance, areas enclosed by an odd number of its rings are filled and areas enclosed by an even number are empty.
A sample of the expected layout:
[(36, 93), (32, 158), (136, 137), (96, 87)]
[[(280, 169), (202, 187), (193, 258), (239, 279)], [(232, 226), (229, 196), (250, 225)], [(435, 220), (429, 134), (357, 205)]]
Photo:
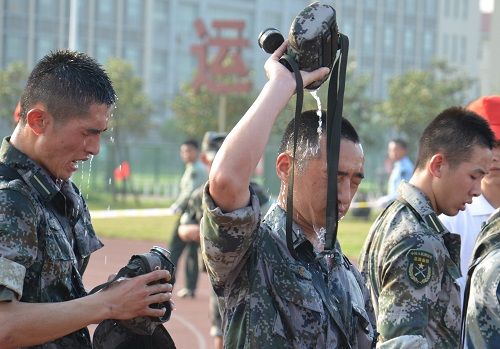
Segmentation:
[(108, 127), (111, 109), (105, 104), (92, 104), (87, 115), (64, 121), (55, 121), (46, 113), (34, 160), (54, 178), (69, 179), (79, 162), (99, 153), (101, 133)]

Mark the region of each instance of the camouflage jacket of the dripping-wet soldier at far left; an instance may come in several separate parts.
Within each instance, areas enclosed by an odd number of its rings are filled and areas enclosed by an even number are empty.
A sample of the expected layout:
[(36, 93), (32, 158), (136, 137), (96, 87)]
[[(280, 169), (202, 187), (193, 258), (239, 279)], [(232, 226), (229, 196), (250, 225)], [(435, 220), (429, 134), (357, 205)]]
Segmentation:
[[(71, 182), (54, 180), (4, 139), (0, 178), (0, 301), (62, 302), (84, 296), (81, 275), (102, 247), (83, 197)], [(22, 179), (21, 179), (22, 176)], [(49, 314), (47, 314), (49, 316)], [(91, 348), (82, 329), (33, 348)]]

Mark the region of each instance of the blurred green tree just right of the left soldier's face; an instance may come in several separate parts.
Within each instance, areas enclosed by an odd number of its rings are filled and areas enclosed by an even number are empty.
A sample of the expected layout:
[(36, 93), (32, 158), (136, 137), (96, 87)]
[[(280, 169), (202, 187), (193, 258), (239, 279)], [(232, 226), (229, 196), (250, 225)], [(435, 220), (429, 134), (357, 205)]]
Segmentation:
[[(144, 136), (150, 131), (153, 107), (142, 90), (141, 78), (135, 74), (130, 63), (119, 58), (111, 58), (106, 63), (106, 71), (113, 81), (117, 95), (116, 108), (108, 126), (110, 142), (107, 161), (107, 175), (111, 178), (113, 200), (116, 200), (113, 170), (122, 161), (130, 162), (129, 140)], [(128, 193), (131, 177), (122, 183), (124, 197)]]

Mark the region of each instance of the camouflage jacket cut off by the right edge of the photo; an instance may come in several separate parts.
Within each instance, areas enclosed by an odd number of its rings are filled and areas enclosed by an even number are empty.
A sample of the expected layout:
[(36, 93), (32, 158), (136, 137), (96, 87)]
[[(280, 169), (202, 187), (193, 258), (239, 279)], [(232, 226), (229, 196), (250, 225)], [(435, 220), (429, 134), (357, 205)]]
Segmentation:
[(500, 346), (500, 209), (486, 222), (474, 246), (469, 274), (465, 338), (468, 348)]

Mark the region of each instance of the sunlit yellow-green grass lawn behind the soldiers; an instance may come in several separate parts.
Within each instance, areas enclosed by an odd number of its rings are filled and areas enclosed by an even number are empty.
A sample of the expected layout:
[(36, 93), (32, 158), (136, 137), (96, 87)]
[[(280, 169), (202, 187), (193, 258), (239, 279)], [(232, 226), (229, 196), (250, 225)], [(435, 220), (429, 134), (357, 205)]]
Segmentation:
[[(177, 216), (168, 217), (118, 217), (92, 219), (101, 237), (133, 240), (170, 241)], [(343, 252), (357, 261), (372, 221), (347, 217), (339, 225), (338, 239)]]

